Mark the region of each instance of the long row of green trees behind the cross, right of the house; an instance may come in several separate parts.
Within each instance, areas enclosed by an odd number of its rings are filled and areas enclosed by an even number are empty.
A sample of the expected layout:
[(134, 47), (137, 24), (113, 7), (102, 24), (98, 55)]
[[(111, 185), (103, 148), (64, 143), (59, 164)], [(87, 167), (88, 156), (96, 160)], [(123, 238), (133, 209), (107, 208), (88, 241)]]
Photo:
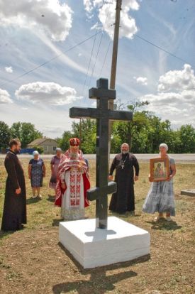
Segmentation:
[[(160, 143), (167, 143), (170, 153), (195, 153), (195, 129), (191, 124), (182, 125), (173, 130), (169, 120), (162, 121), (151, 111), (140, 110), (145, 102), (132, 102), (127, 109), (133, 111), (133, 121), (115, 121), (111, 134), (111, 153), (119, 153), (121, 144), (130, 145), (133, 153), (158, 153)], [(118, 109), (123, 104), (118, 103)], [(65, 131), (58, 138), (60, 147), (68, 148), (68, 138), (82, 138), (82, 151), (85, 154), (96, 153), (96, 120), (82, 119), (81, 124), (72, 123), (72, 131)]]

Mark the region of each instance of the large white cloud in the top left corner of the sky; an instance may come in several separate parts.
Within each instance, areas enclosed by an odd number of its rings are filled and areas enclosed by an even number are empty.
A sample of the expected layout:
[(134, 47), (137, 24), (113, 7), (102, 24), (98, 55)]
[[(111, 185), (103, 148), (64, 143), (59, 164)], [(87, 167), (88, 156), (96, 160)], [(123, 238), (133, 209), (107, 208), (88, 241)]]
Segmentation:
[(0, 0), (0, 25), (44, 31), (52, 40), (65, 40), (72, 27), (72, 10), (58, 0)]

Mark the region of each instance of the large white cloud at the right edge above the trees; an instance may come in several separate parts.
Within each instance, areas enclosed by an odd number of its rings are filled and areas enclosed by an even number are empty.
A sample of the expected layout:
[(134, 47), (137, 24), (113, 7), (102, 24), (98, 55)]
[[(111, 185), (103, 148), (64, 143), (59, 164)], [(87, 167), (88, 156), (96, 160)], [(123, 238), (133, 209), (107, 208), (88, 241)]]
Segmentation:
[[(170, 70), (160, 76), (157, 94), (146, 94), (148, 110), (176, 124), (193, 124), (195, 112), (195, 76), (190, 65), (183, 70)], [(183, 117), (185, 119), (183, 120)]]

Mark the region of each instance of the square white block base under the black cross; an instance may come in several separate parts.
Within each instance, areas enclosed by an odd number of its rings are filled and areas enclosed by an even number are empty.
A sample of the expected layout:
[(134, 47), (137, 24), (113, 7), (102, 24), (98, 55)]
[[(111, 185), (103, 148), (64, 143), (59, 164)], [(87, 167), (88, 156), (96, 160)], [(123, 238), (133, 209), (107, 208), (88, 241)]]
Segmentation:
[(96, 219), (60, 222), (60, 242), (84, 268), (130, 261), (150, 253), (150, 234), (108, 217), (108, 228), (97, 229)]

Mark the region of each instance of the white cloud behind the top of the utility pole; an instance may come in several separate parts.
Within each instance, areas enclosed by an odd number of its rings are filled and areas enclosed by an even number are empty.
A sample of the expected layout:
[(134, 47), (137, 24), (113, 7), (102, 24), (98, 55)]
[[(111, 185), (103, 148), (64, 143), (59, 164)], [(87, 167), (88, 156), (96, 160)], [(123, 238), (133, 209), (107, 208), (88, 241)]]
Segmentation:
[[(99, 9), (99, 21), (108, 35), (113, 38), (113, 29), (114, 26), (111, 26), (115, 23), (115, 14), (116, 14), (116, 2), (105, 0), (102, 5), (101, 0), (84, 0), (84, 8), (87, 11), (87, 15), (90, 17), (94, 9)], [(130, 9), (138, 10), (139, 4), (136, 0), (124, 0), (121, 10), (121, 21), (120, 21), (120, 38), (133, 38), (133, 35), (137, 33), (138, 28), (135, 24), (135, 19), (132, 18), (129, 14)], [(99, 24), (96, 23), (92, 28), (99, 28)]]

